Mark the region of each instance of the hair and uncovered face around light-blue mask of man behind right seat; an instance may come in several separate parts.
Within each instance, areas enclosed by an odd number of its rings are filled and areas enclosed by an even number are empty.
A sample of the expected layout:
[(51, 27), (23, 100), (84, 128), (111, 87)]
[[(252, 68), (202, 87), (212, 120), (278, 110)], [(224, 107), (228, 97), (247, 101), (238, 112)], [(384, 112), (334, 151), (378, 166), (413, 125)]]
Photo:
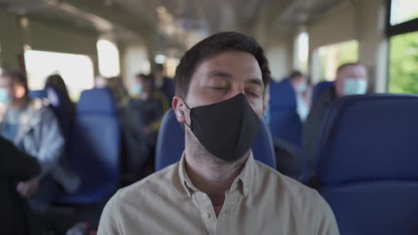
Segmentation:
[(367, 82), (366, 68), (361, 65), (351, 65), (341, 69), (337, 74), (335, 88), (338, 97), (344, 96), (344, 85), (347, 79), (359, 79)]

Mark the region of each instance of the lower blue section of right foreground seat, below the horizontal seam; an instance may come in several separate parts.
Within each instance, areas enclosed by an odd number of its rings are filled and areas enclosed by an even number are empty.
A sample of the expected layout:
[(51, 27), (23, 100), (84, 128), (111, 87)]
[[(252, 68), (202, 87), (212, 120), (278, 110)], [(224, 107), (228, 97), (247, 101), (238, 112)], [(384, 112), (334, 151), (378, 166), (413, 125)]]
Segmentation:
[(341, 235), (418, 234), (418, 183), (372, 181), (320, 189)]

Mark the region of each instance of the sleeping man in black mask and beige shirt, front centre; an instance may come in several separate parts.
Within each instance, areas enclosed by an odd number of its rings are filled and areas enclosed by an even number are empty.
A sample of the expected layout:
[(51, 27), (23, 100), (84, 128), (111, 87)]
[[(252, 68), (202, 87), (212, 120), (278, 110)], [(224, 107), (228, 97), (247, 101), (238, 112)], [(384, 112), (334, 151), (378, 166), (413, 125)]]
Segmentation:
[(253, 38), (198, 42), (174, 81), (181, 161), (113, 195), (98, 234), (339, 234), (315, 190), (254, 160), (270, 71)]

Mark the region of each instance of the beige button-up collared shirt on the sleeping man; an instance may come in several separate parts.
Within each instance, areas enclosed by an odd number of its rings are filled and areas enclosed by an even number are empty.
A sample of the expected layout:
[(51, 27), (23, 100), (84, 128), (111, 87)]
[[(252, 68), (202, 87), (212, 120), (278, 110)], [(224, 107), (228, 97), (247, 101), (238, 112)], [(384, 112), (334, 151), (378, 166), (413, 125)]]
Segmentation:
[(118, 190), (98, 234), (339, 234), (332, 210), (310, 188), (254, 160), (225, 192), (217, 218), (208, 195), (177, 164)]

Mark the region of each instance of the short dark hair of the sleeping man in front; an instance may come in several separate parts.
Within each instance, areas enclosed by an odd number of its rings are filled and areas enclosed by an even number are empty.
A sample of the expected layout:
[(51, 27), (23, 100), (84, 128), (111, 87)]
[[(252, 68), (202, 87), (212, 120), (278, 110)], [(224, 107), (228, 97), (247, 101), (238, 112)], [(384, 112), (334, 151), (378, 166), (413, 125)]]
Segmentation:
[(191, 78), (198, 66), (206, 60), (226, 51), (242, 51), (253, 55), (259, 63), (264, 87), (270, 83), (269, 62), (267, 62), (263, 49), (254, 38), (235, 32), (217, 33), (198, 42), (198, 44), (191, 47), (181, 57), (174, 78), (176, 95), (185, 98), (188, 93)]

